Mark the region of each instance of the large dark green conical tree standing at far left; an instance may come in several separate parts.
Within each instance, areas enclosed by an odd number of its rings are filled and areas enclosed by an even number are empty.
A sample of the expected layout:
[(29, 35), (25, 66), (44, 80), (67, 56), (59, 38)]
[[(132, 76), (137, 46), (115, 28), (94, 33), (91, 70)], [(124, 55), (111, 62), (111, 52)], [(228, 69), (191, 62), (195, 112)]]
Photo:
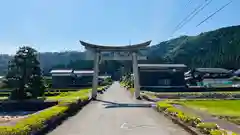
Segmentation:
[(6, 79), (7, 85), (14, 88), (11, 99), (22, 100), (28, 98), (28, 95), (31, 98), (42, 96), (44, 85), (37, 51), (27, 46), (20, 47), (9, 62)]

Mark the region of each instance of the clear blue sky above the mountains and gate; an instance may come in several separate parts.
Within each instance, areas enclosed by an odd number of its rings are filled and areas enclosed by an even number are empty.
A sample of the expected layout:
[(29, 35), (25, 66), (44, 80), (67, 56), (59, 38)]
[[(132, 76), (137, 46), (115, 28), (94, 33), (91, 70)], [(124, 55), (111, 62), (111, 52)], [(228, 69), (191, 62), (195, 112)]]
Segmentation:
[(152, 44), (181, 34), (196, 35), (239, 25), (239, 0), (201, 26), (196, 25), (229, 0), (213, 2), (171, 36), (174, 27), (204, 0), (5, 0), (0, 2), (0, 53), (22, 45), (40, 52), (83, 50), (79, 40), (125, 45)]

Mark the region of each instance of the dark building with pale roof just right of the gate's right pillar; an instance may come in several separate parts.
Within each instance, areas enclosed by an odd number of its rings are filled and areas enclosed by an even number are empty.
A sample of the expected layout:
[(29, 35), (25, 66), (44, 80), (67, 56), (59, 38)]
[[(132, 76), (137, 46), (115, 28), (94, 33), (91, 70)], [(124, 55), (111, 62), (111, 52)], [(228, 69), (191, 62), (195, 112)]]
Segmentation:
[(139, 64), (139, 82), (144, 88), (185, 87), (184, 64)]

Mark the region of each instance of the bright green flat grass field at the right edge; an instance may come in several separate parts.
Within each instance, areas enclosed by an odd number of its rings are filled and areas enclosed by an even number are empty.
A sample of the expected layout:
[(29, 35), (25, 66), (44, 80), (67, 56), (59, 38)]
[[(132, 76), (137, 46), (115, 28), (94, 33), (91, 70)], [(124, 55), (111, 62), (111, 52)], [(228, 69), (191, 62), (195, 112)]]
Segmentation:
[(240, 116), (240, 100), (187, 100), (180, 103), (213, 115)]

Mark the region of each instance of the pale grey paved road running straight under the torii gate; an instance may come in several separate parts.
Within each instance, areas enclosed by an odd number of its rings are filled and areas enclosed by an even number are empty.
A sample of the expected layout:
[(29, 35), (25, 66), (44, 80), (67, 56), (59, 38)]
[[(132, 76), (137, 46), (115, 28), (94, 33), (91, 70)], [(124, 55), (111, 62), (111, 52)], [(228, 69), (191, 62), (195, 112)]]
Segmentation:
[[(142, 104), (132, 99), (117, 82), (99, 99), (125, 103), (123, 105)], [(189, 135), (151, 108), (109, 107), (111, 104), (102, 101), (92, 101), (49, 135)]]

